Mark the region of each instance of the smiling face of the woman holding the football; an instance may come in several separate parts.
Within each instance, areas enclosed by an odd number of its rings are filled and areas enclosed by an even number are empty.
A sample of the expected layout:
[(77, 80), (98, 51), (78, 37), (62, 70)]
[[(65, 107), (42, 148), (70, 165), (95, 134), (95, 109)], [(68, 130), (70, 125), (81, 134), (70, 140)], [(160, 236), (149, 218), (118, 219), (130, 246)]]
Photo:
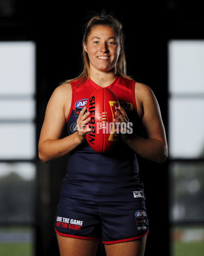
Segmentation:
[(84, 43), (84, 49), (88, 53), (90, 72), (116, 73), (116, 63), (122, 50), (115, 31), (108, 26), (94, 27)]

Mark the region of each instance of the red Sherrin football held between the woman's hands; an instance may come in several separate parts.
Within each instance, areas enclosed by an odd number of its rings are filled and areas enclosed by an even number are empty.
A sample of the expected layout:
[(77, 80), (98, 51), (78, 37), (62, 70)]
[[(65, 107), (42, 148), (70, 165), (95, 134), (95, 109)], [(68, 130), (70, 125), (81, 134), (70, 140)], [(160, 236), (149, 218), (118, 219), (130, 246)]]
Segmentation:
[(92, 131), (86, 134), (86, 140), (90, 147), (98, 153), (110, 151), (119, 139), (115, 133), (113, 122), (115, 112), (120, 106), (115, 94), (108, 88), (96, 90), (86, 103), (91, 120), (87, 127)]

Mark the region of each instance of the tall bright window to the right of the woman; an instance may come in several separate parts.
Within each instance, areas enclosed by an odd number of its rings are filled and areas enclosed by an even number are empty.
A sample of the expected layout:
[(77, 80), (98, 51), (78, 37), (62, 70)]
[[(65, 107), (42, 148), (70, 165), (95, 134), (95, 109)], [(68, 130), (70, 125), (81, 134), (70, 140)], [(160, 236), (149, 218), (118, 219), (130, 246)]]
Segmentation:
[(204, 41), (168, 42), (171, 256), (204, 253)]

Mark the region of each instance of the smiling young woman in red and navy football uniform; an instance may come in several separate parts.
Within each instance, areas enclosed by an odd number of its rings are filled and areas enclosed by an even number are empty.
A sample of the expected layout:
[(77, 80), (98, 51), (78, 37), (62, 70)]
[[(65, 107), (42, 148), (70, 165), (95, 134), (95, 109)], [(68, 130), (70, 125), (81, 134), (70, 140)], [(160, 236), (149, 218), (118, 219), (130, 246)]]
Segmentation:
[[(107, 256), (142, 256), (149, 230), (136, 154), (162, 163), (167, 157), (165, 129), (152, 90), (125, 74), (122, 26), (112, 16), (92, 18), (83, 39), (84, 70), (57, 87), (47, 106), (39, 140), (39, 158), (48, 162), (70, 153), (55, 230), (61, 256), (96, 255), (100, 238)], [(91, 149), (85, 103), (97, 89), (111, 89), (120, 102), (114, 122), (132, 124), (106, 154)], [(84, 107), (83, 107), (84, 106)], [(147, 138), (137, 132), (140, 123)], [(67, 127), (68, 136), (62, 138)]]

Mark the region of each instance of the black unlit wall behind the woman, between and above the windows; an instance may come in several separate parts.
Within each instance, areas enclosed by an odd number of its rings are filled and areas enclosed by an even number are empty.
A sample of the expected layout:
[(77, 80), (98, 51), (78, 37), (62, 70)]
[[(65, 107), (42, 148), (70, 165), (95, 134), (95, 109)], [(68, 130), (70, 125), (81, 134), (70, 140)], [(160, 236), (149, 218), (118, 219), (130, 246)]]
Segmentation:
[[(93, 12), (106, 10), (123, 24), (128, 74), (152, 88), (160, 105), (168, 138), (168, 64), (170, 39), (203, 39), (204, 19), (199, 1), (85, 3), (79, 1), (0, 0), (0, 40), (36, 42), (37, 140), (46, 105), (58, 84), (80, 70), (82, 27)], [(7, 5), (8, 6), (8, 5)], [(37, 145), (38, 141), (36, 141)], [(37, 152), (36, 152), (37, 155)], [(67, 156), (47, 164), (35, 159), (36, 255), (58, 255), (54, 216), (65, 175)], [(157, 164), (139, 158), (144, 183), (150, 235), (146, 255), (168, 255), (168, 162)], [(103, 247), (99, 250), (98, 255)]]

